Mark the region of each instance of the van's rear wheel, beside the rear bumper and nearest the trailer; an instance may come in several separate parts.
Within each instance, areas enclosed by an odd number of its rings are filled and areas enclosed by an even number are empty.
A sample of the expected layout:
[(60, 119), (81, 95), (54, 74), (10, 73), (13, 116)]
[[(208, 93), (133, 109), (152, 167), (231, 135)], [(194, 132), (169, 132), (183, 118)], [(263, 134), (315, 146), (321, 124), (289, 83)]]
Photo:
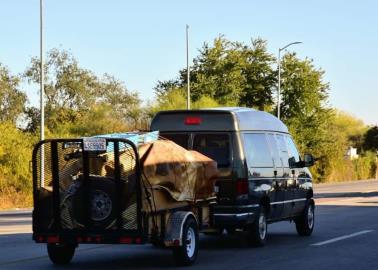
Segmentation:
[(266, 210), (260, 206), (255, 221), (248, 226), (248, 244), (254, 247), (262, 247), (265, 245), (268, 233), (268, 225), (266, 221)]

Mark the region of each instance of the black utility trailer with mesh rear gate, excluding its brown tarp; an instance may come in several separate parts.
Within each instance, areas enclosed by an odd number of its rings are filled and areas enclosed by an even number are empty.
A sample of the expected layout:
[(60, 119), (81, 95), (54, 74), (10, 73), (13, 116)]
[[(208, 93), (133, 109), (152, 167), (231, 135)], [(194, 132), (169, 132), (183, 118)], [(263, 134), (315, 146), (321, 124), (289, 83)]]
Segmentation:
[(211, 230), (215, 200), (164, 204), (165, 191), (146, 183), (138, 154), (154, 136), (51, 139), (35, 146), (33, 240), (47, 244), (54, 264), (69, 263), (81, 244), (146, 243), (171, 249), (180, 265), (194, 263), (199, 231)]

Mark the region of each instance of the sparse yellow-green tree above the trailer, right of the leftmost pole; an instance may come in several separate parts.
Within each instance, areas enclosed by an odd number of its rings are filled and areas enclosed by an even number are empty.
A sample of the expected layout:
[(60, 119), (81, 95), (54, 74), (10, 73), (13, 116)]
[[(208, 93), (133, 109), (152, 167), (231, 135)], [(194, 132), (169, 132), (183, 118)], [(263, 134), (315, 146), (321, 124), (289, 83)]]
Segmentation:
[[(47, 54), (45, 66), (45, 95), (46, 95), (46, 125), (57, 135), (77, 134), (78, 130), (85, 130), (77, 125), (91, 126), (93, 123), (83, 123), (83, 119), (90, 121), (97, 112), (99, 116), (107, 116), (104, 110), (111, 111), (112, 117), (119, 122), (119, 126), (135, 125), (136, 111), (140, 109), (140, 99), (135, 92), (129, 92), (125, 85), (113, 76), (105, 74), (96, 76), (90, 70), (79, 66), (78, 61), (67, 51), (52, 49)], [(38, 83), (40, 80), (39, 59), (33, 58), (31, 66), (25, 71), (29, 82)], [(108, 106), (109, 105), (109, 106)], [(100, 113), (103, 112), (103, 113)], [(29, 110), (30, 128), (35, 129), (36, 111)], [(106, 130), (106, 121), (99, 121), (104, 127), (95, 130)], [(109, 125), (109, 131), (112, 130)]]

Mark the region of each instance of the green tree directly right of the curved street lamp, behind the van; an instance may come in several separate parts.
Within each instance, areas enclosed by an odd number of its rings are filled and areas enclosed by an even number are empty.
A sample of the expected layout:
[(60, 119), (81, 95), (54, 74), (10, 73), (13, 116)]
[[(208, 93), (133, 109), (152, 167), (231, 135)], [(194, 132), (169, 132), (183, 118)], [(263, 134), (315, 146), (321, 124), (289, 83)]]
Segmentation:
[(281, 65), (281, 119), (301, 152), (311, 152), (319, 158), (313, 173), (315, 179), (324, 181), (330, 173), (334, 143), (333, 134), (328, 132), (332, 111), (327, 104), (329, 85), (324, 83), (324, 71), (294, 53), (284, 55)]

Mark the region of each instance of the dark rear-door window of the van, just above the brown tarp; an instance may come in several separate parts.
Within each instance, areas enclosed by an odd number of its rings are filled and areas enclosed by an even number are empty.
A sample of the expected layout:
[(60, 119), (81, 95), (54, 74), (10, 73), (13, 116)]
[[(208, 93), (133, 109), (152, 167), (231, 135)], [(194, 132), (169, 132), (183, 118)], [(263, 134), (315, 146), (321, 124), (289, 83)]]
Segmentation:
[(230, 136), (228, 134), (196, 134), (193, 150), (214, 159), (218, 168), (230, 167)]

